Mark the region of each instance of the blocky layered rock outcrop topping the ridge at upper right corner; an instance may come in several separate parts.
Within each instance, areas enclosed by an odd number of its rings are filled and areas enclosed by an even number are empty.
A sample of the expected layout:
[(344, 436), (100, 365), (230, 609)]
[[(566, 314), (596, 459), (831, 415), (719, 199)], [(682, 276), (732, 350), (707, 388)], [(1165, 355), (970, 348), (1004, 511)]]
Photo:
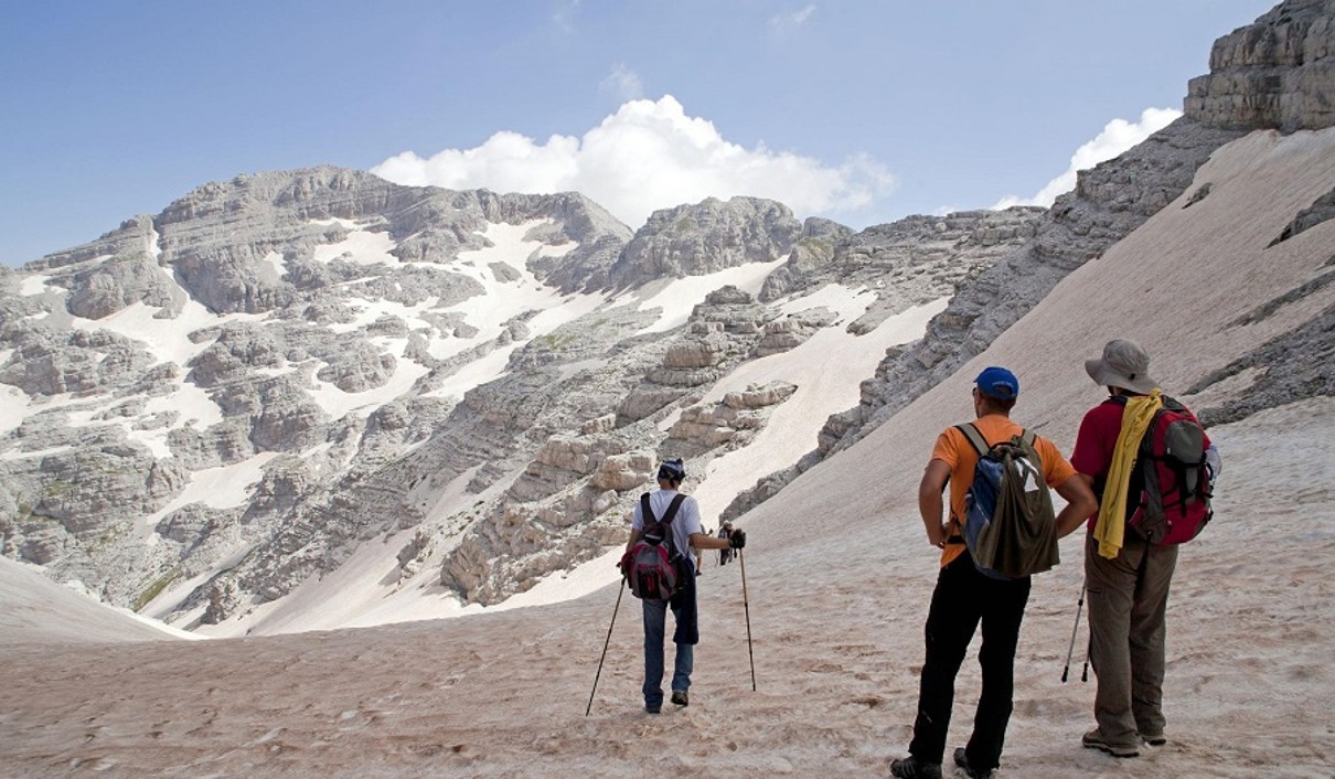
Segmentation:
[(1210, 73), (1191, 80), (1183, 107), (1231, 130), (1335, 124), (1335, 0), (1286, 0), (1216, 40)]

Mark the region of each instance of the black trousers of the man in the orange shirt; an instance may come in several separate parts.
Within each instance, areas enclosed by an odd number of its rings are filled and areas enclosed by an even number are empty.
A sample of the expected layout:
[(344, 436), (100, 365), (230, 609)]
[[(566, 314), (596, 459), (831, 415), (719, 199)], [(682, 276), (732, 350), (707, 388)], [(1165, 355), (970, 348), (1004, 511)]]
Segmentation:
[(909, 754), (940, 763), (945, 754), (955, 676), (979, 623), (983, 623), (983, 693), (973, 718), (973, 735), (964, 747), (973, 768), (995, 768), (1011, 722), (1015, 689), (1015, 648), (1029, 600), (1029, 579), (989, 579), (973, 567), (968, 552), (941, 568), (926, 615), (926, 661), (918, 683), (918, 712)]

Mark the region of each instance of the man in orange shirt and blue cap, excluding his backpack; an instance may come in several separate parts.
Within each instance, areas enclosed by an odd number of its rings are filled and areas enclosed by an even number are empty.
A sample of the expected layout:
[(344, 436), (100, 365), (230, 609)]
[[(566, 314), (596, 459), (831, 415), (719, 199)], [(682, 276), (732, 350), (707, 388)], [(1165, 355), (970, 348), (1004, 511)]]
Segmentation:
[[(973, 386), (973, 410), (977, 414), (973, 425), (989, 445), (1023, 432), (1011, 421), (1011, 409), (1019, 396), (1020, 381), (1009, 370), (988, 367), (979, 374)], [(1033, 448), (1041, 461), (1044, 481), (1068, 501), (1056, 517), (1057, 534), (1065, 536), (1079, 528), (1097, 504), (1088, 484), (1079, 478), (1051, 441), (1036, 437)], [(1029, 600), (1029, 577), (991, 579), (977, 569), (965, 548), (965, 494), (973, 482), (977, 462), (979, 454), (965, 434), (957, 428), (947, 428), (937, 437), (918, 485), (918, 509), (928, 542), (941, 549), (941, 571), (926, 616), (926, 660), (918, 683), (913, 742), (908, 758), (890, 763), (890, 774), (901, 779), (941, 776), (955, 676), (980, 621), (983, 693), (973, 734), (968, 746), (955, 750), (955, 764), (972, 778), (991, 776), (1000, 763), (1011, 720), (1015, 649)], [(941, 493), (947, 484), (951, 486), (951, 513), (943, 521)]]

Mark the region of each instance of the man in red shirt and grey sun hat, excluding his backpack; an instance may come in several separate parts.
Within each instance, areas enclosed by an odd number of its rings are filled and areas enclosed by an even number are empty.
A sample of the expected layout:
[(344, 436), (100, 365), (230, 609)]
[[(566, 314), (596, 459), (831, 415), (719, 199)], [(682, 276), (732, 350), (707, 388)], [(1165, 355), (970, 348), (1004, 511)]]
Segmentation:
[[(1095, 720), (1081, 739), (1092, 750), (1135, 758), (1141, 742), (1164, 738), (1164, 612), (1177, 547), (1155, 544), (1127, 525), (1132, 464), (1155, 412), (1169, 401), (1149, 378), (1149, 355), (1132, 341), (1109, 341), (1085, 373), (1109, 398), (1080, 424), (1071, 464), (1099, 496), (1085, 538), (1089, 663), (1097, 677)], [(1161, 400), (1163, 398), (1163, 400)], [(1185, 408), (1180, 408), (1191, 416)], [(1191, 417), (1195, 420), (1195, 417)], [(1204, 437), (1203, 446), (1210, 446)], [(1207, 452), (1207, 462), (1212, 453)], [(1218, 472), (1218, 460), (1214, 461)]]

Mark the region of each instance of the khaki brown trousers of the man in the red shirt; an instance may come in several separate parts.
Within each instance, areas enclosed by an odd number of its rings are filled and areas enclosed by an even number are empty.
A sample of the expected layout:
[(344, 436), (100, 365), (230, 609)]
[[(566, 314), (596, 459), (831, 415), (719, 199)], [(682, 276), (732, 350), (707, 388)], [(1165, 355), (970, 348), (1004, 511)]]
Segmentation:
[(1176, 567), (1177, 547), (1156, 547), (1129, 529), (1112, 560), (1099, 555), (1092, 533), (1085, 537), (1093, 716), (1113, 747), (1163, 736), (1164, 611)]

